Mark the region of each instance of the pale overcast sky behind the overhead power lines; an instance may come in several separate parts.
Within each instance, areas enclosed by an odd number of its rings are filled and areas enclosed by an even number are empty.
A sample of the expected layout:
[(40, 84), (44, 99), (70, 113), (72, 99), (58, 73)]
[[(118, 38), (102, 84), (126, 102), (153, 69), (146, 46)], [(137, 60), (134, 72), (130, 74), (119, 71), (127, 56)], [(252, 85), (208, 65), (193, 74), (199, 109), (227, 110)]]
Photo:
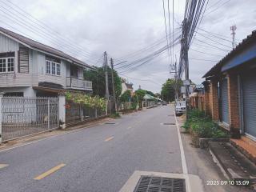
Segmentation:
[[(175, 31), (182, 23), (185, 2), (174, 0)], [(165, 3), (167, 11), (167, 0)], [(0, 26), (64, 50), (90, 65), (101, 66), (105, 50), (115, 63), (127, 61), (119, 65), (122, 66), (166, 46), (161, 0), (0, 0), (0, 10)], [(22, 10), (38, 20), (33, 20)], [(172, 10), (170, 0), (171, 30)], [(166, 19), (168, 24), (168, 15)], [(198, 30), (190, 46), (191, 80), (201, 83), (202, 75), (232, 49), (230, 26), (237, 26), (236, 38), (240, 42), (256, 29), (255, 22), (255, 0), (210, 0), (199, 26), (202, 30)], [(214, 38), (203, 30), (222, 36)], [(155, 42), (159, 42), (158, 46), (138, 52)], [(178, 44), (174, 47), (177, 58), (179, 50)], [(142, 89), (160, 92), (162, 83), (171, 77), (167, 52), (134, 70), (118, 71), (123, 77), (129, 77), (135, 90), (141, 85)]]

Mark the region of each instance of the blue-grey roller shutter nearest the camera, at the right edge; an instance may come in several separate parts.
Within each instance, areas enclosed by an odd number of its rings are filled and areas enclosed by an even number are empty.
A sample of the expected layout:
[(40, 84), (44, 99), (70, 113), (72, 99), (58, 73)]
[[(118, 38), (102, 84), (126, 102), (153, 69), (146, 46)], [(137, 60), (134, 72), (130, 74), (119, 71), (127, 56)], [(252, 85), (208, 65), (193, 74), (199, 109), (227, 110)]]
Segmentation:
[(256, 71), (242, 78), (243, 123), (246, 134), (256, 138)]

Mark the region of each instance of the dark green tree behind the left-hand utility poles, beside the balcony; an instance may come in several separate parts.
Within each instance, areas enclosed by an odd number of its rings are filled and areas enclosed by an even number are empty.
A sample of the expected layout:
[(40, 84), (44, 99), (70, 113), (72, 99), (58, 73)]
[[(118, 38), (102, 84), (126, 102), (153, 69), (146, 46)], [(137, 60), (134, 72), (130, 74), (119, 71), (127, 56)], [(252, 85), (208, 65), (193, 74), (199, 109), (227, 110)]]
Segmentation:
[[(93, 83), (94, 95), (105, 97), (105, 94), (106, 94), (105, 71), (103, 67), (96, 67), (96, 68), (97, 68), (96, 71), (95, 70), (84, 71), (84, 78)], [(109, 80), (109, 91), (110, 91), (110, 95), (113, 95), (111, 68), (108, 67), (107, 70), (108, 70), (108, 80)], [(122, 92), (122, 82), (116, 70), (114, 70), (113, 74), (114, 74), (115, 95), (116, 95), (116, 98), (118, 98)]]

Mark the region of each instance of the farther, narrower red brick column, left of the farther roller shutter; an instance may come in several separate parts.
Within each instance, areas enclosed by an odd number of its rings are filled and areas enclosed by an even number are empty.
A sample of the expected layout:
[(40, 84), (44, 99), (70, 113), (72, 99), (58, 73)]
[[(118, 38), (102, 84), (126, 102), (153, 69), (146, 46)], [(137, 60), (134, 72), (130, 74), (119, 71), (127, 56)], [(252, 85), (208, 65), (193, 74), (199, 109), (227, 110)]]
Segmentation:
[(212, 79), (210, 81), (210, 114), (214, 122), (219, 121), (218, 114), (218, 80)]

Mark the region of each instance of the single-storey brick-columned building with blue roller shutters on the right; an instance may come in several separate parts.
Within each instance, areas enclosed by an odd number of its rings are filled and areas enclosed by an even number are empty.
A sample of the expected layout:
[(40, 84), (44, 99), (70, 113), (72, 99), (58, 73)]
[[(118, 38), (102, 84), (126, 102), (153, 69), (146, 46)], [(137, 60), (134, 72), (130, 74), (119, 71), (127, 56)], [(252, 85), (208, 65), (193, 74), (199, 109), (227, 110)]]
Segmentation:
[(203, 78), (206, 113), (232, 138), (256, 141), (256, 30)]

